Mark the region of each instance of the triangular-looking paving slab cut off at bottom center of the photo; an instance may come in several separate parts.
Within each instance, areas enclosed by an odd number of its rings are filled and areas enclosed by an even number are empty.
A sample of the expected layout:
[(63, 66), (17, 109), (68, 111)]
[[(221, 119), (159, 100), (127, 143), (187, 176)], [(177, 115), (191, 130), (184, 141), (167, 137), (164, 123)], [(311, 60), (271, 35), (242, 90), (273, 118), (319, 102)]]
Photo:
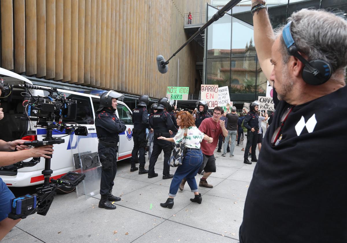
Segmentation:
[[(168, 230), (169, 229), (169, 230)], [(177, 242), (218, 242), (237, 243), (239, 241), (202, 231), (193, 227), (178, 224), (172, 221), (164, 221), (158, 227), (142, 235), (134, 243), (177, 243)]]

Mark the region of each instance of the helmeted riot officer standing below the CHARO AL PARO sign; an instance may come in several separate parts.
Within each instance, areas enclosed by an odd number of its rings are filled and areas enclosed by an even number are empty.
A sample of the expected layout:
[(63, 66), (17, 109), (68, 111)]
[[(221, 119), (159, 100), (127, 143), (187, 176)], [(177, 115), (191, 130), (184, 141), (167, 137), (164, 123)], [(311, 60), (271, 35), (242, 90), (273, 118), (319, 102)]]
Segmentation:
[[(245, 119), (243, 120), (244, 127), (247, 128), (247, 144), (244, 155), (244, 163), (252, 164), (252, 162), (257, 162), (257, 158), (255, 156), (255, 149), (257, 147), (258, 141), (258, 130), (259, 130), (259, 121), (258, 121), (258, 105), (259, 103), (253, 102), (249, 105), (249, 112), (247, 113)], [(248, 160), (248, 152), (249, 148), (252, 146), (252, 159)]]

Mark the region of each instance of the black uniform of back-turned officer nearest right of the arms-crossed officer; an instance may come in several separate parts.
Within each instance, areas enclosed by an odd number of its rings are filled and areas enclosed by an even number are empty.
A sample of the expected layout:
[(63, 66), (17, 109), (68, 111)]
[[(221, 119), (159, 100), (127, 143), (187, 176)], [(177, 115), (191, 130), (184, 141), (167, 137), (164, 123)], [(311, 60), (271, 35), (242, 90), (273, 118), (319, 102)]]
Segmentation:
[(148, 111), (143, 106), (137, 106), (133, 110), (133, 138), (134, 138), (134, 149), (132, 151), (131, 157), (131, 166), (135, 167), (137, 161), (137, 152), (139, 152), (139, 163), (140, 163), (140, 172), (141, 169), (145, 167), (145, 149), (147, 145), (146, 140), (146, 128), (151, 129), (151, 126), (148, 121)]

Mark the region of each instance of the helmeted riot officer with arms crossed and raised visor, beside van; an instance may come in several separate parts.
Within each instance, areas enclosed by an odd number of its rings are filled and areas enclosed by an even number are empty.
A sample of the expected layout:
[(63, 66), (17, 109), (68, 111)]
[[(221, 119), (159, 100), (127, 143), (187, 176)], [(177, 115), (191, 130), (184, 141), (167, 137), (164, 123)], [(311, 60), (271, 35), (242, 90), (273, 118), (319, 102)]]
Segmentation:
[(126, 126), (119, 120), (117, 99), (124, 95), (113, 90), (104, 92), (100, 97), (100, 108), (95, 112), (95, 128), (98, 135), (98, 153), (102, 165), (99, 208), (116, 209), (112, 201), (120, 201), (120, 198), (112, 195), (113, 180), (117, 173), (117, 144), (119, 133), (125, 131)]

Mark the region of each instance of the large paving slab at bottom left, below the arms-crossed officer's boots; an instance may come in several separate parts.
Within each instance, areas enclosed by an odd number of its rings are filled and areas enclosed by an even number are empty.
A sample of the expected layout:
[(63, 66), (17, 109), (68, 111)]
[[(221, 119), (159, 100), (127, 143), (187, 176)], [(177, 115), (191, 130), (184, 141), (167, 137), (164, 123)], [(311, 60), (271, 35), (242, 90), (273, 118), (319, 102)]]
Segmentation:
[[(115, 210), (98, 207), (74, 213), (64, 220), (45, 225), (36, 223), (36, 229), (23, 228), (44, 242), (132, 242), (150, 231), (163, 219), (118, 206)], [(25, 239), (18, 242), (27, 242)]]

